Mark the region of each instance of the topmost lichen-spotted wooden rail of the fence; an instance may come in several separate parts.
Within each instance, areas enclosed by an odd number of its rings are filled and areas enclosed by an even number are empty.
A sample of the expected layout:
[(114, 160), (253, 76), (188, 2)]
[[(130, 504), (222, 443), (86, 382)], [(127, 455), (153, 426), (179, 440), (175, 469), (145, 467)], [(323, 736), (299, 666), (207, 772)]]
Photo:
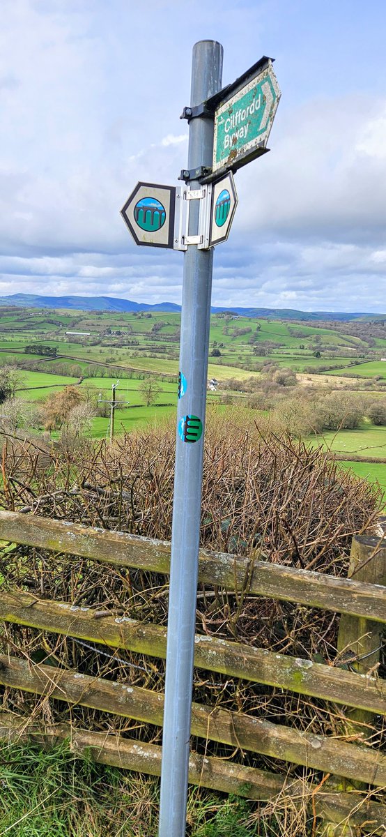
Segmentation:
[[(0, 511), (0, 539), (119, 567), (169, 573), (170, 543), (126, 532)], [(378, 585), (207, 550), (200, 551), (199, 580), (386, 624), (386, 588)]]

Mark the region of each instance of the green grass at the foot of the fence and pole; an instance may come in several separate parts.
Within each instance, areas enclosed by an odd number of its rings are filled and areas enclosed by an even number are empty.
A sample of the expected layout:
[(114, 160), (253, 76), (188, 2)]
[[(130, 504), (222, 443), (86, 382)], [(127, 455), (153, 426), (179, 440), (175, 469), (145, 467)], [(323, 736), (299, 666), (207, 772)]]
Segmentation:
[[(1, 837), (155, 837), (160, 780), (76, 758), (66, 742), (0, 747)], [(274, 837), (277, 824), (250, 820), (256, 804), (190, 788), (190, 837)]]

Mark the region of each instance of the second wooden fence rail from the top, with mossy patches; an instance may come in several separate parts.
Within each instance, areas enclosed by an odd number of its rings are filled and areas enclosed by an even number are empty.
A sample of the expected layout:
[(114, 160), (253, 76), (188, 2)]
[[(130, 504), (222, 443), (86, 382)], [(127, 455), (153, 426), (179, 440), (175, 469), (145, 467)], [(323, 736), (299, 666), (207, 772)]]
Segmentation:
[[(166, 630), (127, 617), (94, 619), (91, 608), (37, 600), (31, 593), (0, 591), (0, 619), (65, 634), (112, 648), (166, 656)], [(210, 636), (196, 635), (195, 665), (302, 695), (386, 714), (386, 681)]]

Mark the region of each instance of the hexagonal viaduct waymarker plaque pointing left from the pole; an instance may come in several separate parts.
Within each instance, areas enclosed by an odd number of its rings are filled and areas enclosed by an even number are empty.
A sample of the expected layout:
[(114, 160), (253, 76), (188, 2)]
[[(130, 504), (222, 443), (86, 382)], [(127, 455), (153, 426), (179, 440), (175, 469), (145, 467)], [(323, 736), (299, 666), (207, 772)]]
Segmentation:
[(173, 249), (175, 187), (137, 183), (120, 210), (135, 244)]

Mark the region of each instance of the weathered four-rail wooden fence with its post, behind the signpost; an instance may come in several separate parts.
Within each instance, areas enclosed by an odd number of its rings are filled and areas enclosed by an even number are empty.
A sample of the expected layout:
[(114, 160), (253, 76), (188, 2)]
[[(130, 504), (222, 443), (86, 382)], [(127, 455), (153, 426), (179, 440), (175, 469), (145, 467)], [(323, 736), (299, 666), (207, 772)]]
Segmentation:
[[(0, 511), (0, 539), (117, 567), (169, 572), (169, 543), (122, 532)], [(379, 659), (380, 635), (386, 624), (386, 542), (373, 536), (355, 537), (349, 574), (355, 575), (355, 579), (335, 578), (253, 558), (202, 550), (201, 583), (221, 585), (228, 591), (247, 590), (249, 595), (264, 595), (338, 612), (342, 614), (340, 647), (353, 650), (354, 655), (364, 659), (353, 664), (354, 670), (345, 670), (197, 635), (195, 665), (348, 707), (346, 716), (358, 733), (361, 722), (369, 721), (375, 715), (386, 715), (386, 680), (378, 677), (377, 665), (374, 665)], [(104, 614), (103, 619), (98, 619), (95, 615), (92, 608), (40, 599), (33, 593), (0, 592), (0, 618), (8, 623), (165, 658), (164, 628), (124, 616), (114, 618), (114, 615)], [(30, 660), (11, 655), (0, 655), (0, 683), (162, 726), (164, 696), (158, 691), (55, 669), (50, 665), (33, 665)], [(250, 714), (221, 708), (214, 710), (213, 706), (198, 703), (192, 705), (191, 732), (241, 750), (343, 777), (348, 785), (354, 783), (356, 789), (339, 793), (328, 789), (324, 783), (316, 787), (297, 779), (286, 779), (278, 773), (193, 753), (190, 782), (254, 799), (272, 801), (280, 798), (283, 803), (288, 798), (291, 804), (297, 798), (303, 803), (307, 792), (314, 815), (329, 823), (326, 834), (352, 833), (346, 830), (348, 824), (350, 828), (358, 829), (358, 834), (386, 833), (385, 809), (371, 798), (372, 788), (386, 787), (386, 757), (371, 747), (347, 742), (344, 736), (316, 736)], [(42, 742), (69, 737), (76, 752), (91, 748), (97, 761), (160, 774), (161, 748), (158, 746), (63, 725), (43, 729), (35, 721), (0, 713), (0, 737), (20, 736), (32, 736)], [(356, 737), (358, 739), (358, 734)], [(369, 793), (358, 790), (358, 783), (364, 783)]]

